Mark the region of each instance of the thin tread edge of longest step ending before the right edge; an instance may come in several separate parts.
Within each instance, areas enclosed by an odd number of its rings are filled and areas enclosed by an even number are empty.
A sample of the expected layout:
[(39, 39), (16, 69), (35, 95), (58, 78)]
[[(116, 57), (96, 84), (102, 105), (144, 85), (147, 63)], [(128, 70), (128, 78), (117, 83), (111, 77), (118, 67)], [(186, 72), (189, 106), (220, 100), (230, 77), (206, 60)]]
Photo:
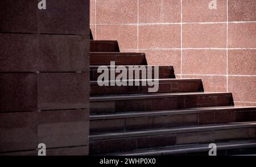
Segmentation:
[(189, 92), (189, 93), (139, 93), (139, 94), (122, 94), (122, 95), (108, 95), (108, 96), (93, 96), (90, 101), (117, 101), (124, 99), (150, 99), (150, 98), (175, 98), (180, 96), (205, 96), (205, 95), (232, 95), (229, 92)]

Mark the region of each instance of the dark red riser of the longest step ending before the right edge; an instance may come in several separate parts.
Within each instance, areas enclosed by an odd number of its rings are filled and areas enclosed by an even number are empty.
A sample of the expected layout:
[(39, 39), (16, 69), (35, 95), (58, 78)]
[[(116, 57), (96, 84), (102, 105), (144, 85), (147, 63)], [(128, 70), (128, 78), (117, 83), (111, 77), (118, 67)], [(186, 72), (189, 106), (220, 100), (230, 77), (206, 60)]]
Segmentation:
[(193, 95), (187, 97), (91, 101), (90, 113), (154, 111), (233, 105), (232, 95)]

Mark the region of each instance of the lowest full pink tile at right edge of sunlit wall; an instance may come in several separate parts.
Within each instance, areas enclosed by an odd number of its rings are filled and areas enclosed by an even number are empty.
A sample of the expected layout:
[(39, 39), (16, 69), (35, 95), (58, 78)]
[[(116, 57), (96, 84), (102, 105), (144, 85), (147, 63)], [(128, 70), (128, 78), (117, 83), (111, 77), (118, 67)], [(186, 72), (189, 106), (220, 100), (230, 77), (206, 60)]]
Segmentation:
[(233, 93), (234, 101), (256, 101), (256, 77), (228, 77), (228, 91)]

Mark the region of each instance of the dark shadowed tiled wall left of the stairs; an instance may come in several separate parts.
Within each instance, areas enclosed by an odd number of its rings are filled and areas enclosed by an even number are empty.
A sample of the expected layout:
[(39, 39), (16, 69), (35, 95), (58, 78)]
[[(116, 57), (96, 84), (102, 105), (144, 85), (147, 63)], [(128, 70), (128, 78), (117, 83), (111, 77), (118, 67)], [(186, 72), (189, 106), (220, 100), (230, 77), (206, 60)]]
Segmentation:
[(0, 1), (0, 155), (88, 155), (89, 1)]

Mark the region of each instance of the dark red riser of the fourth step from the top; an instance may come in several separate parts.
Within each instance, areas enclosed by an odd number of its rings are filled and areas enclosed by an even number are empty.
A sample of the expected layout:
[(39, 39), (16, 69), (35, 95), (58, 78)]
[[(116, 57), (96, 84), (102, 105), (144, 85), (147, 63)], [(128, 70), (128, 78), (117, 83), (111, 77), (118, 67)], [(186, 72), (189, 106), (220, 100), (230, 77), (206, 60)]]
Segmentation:
[[(198, 82), (169, 82), (159, 83), (157, 93), (184, 93), (202, 91), (202, 83)], [(90, 95), (113, 95), (113, 94), (132, 94), (148, 93), (148, 86), (98, 86), (90, 85)]]

